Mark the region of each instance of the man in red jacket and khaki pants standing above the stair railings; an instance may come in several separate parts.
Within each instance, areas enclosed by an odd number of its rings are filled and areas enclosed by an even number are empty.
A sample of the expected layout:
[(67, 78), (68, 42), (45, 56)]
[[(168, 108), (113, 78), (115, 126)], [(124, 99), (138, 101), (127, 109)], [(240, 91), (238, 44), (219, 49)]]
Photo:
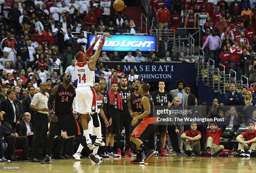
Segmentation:
[(159, 22), (159, 37), (162, 36), (162, 29), (168, 27), (168, 21), (170, 20), (170, 12), (165, 8), (165, 4), (162, 3), (161, 9), (156, 13), (156, 18)]

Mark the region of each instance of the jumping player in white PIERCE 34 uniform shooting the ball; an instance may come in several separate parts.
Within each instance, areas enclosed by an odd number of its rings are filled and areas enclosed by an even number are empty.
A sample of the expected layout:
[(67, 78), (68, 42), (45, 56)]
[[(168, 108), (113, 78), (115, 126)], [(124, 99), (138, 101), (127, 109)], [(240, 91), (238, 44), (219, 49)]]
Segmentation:
[[(100, 52), (104, 45), (105, 37), (111, 38), (113, 36), (110, 34), (104, 33), (99, 42), (98, 49), (95, 51), (94, 55), (91, 56), (90, 59), (87, 59), (87, 58), (91, 54), (91, 51), (95, 46), (96, 42), (99, 40), (99, 36), (97, 35), (97, 32), (95, 32), (95, 41), (86, 51), (86, 53), (79, 51), (75, 55), (76, 60), (78, 61), (75, 66), (75, 72), (78, 76), (77, 89), (76, 89), (77, 94), (75, 97), (75, 101), (76, 101), (75, 111), (81, 113), (82, 127), (84, 131), (84, 135), (87, 139), (86, 140), (87, 146), (90, 149), (92, 149), (93, 144), (89, 136), (87, 120), (90, 121), (91, 120), (90, 114), (93, 116), (93, 114), (96, 112), (96, 96), (95, 96), (96, 93), (92, 88), (94, 85), (94, 76), (95, 76), (94, 69), (95, 69), (95, 62), (98, 60), (100, 56)], [(98, 133), (100, 133), (100, 131)], [(102, 138), (96, 139), (95, 143), (103, 144)]]

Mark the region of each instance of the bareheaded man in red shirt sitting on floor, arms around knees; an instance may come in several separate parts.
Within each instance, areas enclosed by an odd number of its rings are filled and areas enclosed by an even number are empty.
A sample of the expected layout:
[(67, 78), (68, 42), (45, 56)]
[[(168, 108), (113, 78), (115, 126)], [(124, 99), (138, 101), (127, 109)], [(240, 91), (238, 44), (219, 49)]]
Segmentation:
[(183, 145), (188, 156), (195, 156), (195, 153), (200, 153), (202, 134), (197, 130), (197, 123), (195, 121), (191, 122), (190, 130), (185, 131), (180, 137), (183, 139)]

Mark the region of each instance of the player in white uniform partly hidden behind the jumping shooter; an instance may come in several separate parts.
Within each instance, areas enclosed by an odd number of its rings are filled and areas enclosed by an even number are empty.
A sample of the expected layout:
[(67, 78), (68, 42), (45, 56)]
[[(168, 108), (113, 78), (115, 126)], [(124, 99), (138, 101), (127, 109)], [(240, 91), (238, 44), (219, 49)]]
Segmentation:
[[(107, 121), (105, 115), (104, 115), (104, 111), (103, 111), (103, 100), (104, 100), (104, 96), (100, 93), (100, 84), (99, 83), (95, 83), (95, 85), (93, 86), (93, 89), (96, 92), (96, 113), (94, 113), (93, 115), (91, 115), (91, 118), (93, 121), (90, 121), (88, 124), (88, 131), (89, 134), (91, 135), (90, 137), (94, 138), (93, 141), (93, 152), (89, 155), (89, 158), (95, 162), (95, 158), (98, 159), (103, 159), (102, 157), (100, 157), (99, 155), (97, 155), (99, 146), (105, 146), (104, 142), (101, 143), (97, 143), (95, 139), (100, 139), (101, 138), (101, 123), (100, 123), (100, 118), (99, 118), (99, 113), (101, 115), (101, 117), (104, 120), (105, 126), (108, 127), (109, 122)], [(103, 125), (103, 124), (102, 124)], [(77, 152), (73, 155), (73, 157), (77, 160), (81, 160), (80, 156), (81, 156), (81, 151), (83, 149), (83, 146), (80, 144)], [(94, 160), (93, 160), (94, 159)], [(96, 162), (95, 162), (96, 163)]]

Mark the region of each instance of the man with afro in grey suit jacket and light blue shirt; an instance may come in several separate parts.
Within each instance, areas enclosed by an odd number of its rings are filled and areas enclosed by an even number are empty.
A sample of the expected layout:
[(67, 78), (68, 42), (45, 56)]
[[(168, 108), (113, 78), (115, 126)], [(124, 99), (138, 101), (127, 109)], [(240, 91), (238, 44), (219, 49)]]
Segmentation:
[[(183, 79), (180, 79), (176, 82), (176, 88), (175, 90), (171, 90), (170, 94), (172, 95), (172, 98), (179, 97), (180, 98), (180, 105), (182, 105), (183, 110), (187, 110), (188, 107), (188, 94), (183, 91), (184, 87), (186, 87), (186, 82)], [(187, 114), (183, 115), (183, 118), (187, 117)], [(178, 126), (179, 134), (178, 134), (178, 140), (179, 140), (179, 147), (182, 150), (183, 147), (183, 141), (180, 137), (181, 134), (184, 132), (184, 124), (186, 124), (185, 121), (183, 121), (183, 125)], [(168, 151), (170, 151), (168, 149)]]

